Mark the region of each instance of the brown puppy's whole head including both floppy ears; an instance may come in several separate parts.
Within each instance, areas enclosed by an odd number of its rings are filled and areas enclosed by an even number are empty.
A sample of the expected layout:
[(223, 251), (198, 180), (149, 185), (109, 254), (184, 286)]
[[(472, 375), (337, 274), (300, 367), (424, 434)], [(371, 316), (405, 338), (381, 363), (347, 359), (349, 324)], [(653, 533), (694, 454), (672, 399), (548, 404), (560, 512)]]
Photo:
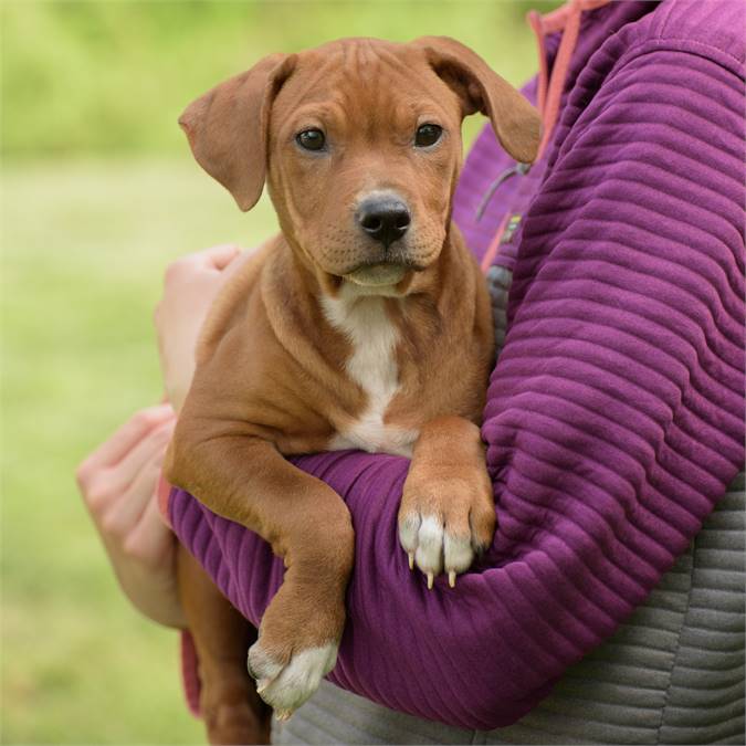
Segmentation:
[(179, 124), (242, 210), (267, 182), (285, 237), (324, 287), (403, 286), (444, 245), (461, 122), (475, 112), (516, 160), (535, 158), (536, 111), (467, 48), (345, 39), (265, 57)]

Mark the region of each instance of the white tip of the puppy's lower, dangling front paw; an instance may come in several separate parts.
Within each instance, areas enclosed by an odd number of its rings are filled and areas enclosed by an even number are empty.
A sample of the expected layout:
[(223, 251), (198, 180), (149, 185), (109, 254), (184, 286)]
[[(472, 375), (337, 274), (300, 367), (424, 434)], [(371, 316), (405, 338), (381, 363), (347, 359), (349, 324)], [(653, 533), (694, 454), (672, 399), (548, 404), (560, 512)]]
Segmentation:
[(256, 692), (277, 719), (287, 719), (317, 689), (322, 679), (337, 662), (336, 642), (307, 648), (291, 655), (283, 665), (261, 647), (261, 640), (249, 650), (249, 669), (256, 679)]

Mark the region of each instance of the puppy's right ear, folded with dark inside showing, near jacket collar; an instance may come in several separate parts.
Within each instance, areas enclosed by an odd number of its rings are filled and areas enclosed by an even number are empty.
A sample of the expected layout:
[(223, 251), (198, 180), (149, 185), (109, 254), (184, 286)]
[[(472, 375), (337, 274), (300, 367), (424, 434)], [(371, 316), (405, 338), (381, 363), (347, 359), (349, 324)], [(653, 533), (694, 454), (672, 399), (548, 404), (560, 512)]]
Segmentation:
[(463, 115), (481, 112), (490, 117), (500, 144), (517, 161), (533, 162), (542, 136), (538, 112), (479, 54), (450, 36), (422, 36), (430, 66), (463, 102)]

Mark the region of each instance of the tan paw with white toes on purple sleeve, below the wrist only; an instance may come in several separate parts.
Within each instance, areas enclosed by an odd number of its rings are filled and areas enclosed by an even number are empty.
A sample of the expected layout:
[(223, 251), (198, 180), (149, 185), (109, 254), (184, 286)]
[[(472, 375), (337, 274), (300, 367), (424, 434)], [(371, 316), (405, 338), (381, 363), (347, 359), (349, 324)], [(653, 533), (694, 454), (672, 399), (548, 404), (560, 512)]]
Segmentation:
[(410, 475), (399, 508), (399, 542), (428, 578), (428, 588), (443, 570), (449, 585), (467, 570), (495, 533), (492, 483), (484, 467), (469, 467), (459, 475)]

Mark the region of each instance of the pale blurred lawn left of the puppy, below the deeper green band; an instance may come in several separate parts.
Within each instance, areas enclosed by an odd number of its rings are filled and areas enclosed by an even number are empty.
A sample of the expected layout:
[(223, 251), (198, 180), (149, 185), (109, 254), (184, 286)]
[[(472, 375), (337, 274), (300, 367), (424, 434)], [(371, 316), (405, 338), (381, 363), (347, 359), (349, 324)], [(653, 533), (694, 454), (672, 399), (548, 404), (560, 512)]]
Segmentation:
[(167, 262), (273, 230), (190, 160), (3, 176), (3, 743), (198, 743), (177, 637), (119, 592), (76, 492), (85, 453), (160, 396)]

